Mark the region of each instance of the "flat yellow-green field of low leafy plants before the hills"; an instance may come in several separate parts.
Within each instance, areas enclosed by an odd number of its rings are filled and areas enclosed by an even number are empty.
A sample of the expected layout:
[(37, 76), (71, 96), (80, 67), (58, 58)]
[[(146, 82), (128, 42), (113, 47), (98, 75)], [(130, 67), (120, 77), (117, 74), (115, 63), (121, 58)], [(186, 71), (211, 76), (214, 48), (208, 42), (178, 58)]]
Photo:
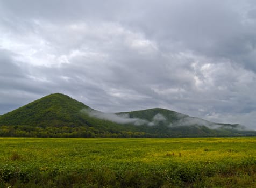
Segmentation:
[(256, 138), (0, 138), (0, 187), (256, 187)]

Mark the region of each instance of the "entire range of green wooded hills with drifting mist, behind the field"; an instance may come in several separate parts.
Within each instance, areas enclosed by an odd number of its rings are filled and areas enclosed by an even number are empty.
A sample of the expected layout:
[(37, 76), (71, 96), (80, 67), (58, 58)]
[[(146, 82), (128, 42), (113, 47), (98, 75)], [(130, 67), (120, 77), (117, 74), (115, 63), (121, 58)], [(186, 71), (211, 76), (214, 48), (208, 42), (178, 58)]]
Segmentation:
[(1, 115), (0, 136), (198, 137), (256, 136), (256, 132), (159, 108), (103, 113), (55, 93)]

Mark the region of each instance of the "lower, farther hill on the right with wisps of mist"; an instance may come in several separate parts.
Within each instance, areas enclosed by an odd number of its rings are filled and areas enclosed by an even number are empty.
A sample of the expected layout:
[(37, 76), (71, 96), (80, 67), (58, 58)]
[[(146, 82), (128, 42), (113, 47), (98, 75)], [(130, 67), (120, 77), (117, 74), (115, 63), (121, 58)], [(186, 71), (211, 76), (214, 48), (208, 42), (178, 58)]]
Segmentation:
[(255, 131), (248, 131), (239, 124), (219, 124), (166, 109), (156, 108), (118, 114), (129, 114), (130, 118), (147, 120), (144, 125), (139, 126), (140, 131), (157, 133), (163, 137), (256, 136)]

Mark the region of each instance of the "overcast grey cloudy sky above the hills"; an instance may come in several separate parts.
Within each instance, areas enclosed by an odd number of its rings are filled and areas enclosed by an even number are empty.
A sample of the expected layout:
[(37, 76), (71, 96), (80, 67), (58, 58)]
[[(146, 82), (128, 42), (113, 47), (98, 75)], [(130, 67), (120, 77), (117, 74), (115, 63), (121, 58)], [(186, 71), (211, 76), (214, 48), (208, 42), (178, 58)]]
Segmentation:
[(256, 2), (0, 0), (0, 114), (50, 93), (256, 129)]

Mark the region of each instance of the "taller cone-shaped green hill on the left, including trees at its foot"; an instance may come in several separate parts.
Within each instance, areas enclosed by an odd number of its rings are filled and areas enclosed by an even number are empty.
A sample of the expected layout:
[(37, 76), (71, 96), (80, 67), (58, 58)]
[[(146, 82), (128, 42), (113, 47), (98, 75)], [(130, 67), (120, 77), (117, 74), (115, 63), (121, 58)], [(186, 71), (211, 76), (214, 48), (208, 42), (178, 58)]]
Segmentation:
[(91, 110), (77, 100), (54, 93), (35, 100), (0, 117), (0, 136), (104, 137), (132, 126), (91, 117)]

